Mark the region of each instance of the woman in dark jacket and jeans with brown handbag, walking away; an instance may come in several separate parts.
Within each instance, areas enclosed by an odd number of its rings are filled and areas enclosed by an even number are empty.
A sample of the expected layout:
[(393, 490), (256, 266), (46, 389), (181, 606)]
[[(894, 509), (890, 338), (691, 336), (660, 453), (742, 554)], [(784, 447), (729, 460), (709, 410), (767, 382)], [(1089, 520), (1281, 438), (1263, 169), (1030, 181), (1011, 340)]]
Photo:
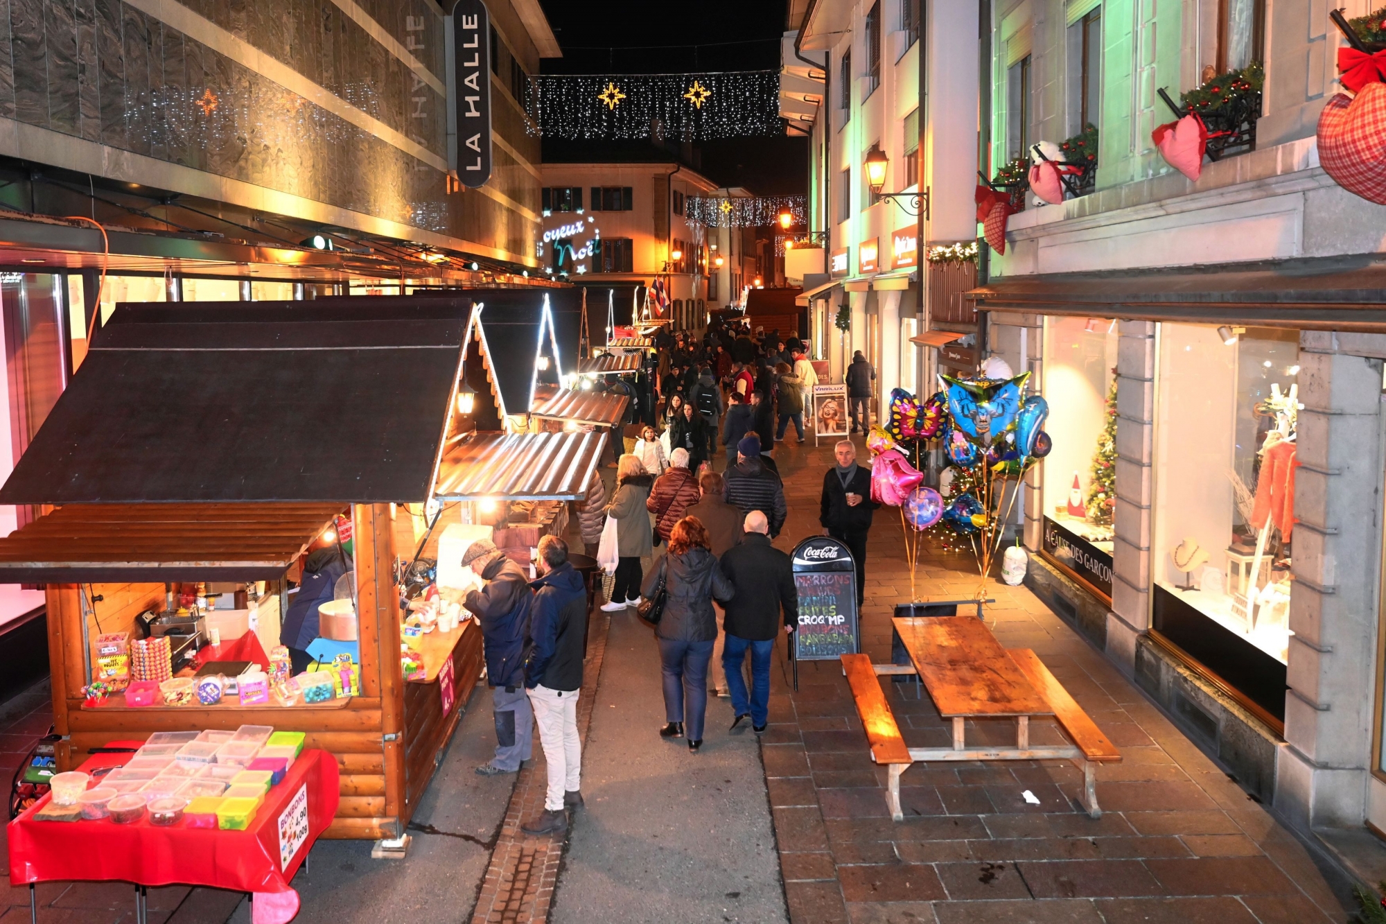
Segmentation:
[(668, 598), (656, 626), (664, 670), (664, 738), (686, 737), (689, 751), (703, 746), (707, 713), (707, 665), (717, 641), (712, 598), (732, 599), (736, 588), (722, 573), (708, 548), (707, 529), (696, 516), (685, 516), (669, 531), (669, 554), (650, 570), (640, 595), (654, 599), (660, 577)]

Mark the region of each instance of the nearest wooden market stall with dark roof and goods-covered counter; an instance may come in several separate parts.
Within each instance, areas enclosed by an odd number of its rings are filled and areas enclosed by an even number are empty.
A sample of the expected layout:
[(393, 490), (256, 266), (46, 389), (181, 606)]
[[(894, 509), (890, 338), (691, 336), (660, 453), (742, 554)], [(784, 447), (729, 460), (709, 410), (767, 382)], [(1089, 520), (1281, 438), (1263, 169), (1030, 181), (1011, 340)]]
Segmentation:
[[(602, 441), (489, 434), (564, 474), (492, 455), (477, 477), (457, 451), (488, 440), (457, 412), (466, 307), (355, 301), (122, 304), (94, 333), (0, 488), (49, 511), (0, 538), (0, 581), (47, 587), (58, 770), (112, 738), (272, 726), (331, 755), (323, 837), (402, 838), (482, 669), (464, 612), (405, 608), (410, 511), (477, 522), (438, 491), (460, 484), (568, 499), (553, 488), (586, 484)], [(290, 637), (315, 561), (335, 585)]]

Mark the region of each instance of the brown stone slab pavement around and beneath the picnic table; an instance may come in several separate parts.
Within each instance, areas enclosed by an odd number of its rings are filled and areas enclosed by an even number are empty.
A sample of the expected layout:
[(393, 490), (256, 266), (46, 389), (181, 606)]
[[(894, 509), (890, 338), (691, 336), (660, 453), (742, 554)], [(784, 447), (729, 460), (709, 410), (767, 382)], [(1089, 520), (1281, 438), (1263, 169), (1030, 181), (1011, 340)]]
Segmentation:
[[(790, 517), (776, 545), (818, 531), (827, 444), (776, 451)], [(862, 456), (865, 451), (862, 450)], [(868, 545), (863, 649), (890, 660), (890, 616), (909, 599), (898, 517), (881, 509)], [(970, 556), (931, 552), (933, 599), (970, 598)], [(913, 764), (905, 820), (886, 807), (886, 770), (869, 758), (837, 663), (783, 660), (762, 758), (791, 920), (854, 924), (1343, 921), (1339, 896), (1304, 846), (1175, 728), (1100, 652), (1024, 587), (988, 584), (987, 620), (1008, 648), (1031, 648), (1124, 760), (1098, 771), (1103, 816), (1076, 806), (1071, 763)], [(951, 741), (927, 694), (883, 684), (911, 746)], [(1038, 723), (1037, 723), (1038, 724)], [(1031, 741), (1056, 737), (1034, 727)], [(1006, 735), (1013, 731), (1006, 723)], [(969, 727), (969, 737), (985, 728)], [(1028, 805), (1030, 791), (1040, 805)]]

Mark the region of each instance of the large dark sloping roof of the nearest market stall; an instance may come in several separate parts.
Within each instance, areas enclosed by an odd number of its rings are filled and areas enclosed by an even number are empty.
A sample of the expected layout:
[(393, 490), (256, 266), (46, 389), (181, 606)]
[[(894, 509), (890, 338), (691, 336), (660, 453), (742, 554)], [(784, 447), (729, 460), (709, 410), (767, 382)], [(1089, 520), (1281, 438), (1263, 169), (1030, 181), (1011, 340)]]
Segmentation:
[(0, 504), (428, 497), (467, 300), (121, 304)]

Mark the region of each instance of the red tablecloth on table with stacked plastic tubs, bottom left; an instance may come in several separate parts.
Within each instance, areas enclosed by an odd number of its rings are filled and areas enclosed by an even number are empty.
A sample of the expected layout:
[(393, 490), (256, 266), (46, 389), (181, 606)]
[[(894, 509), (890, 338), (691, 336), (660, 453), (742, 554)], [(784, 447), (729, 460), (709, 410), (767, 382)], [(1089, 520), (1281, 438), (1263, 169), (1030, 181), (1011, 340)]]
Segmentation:
[[(123, 764), (133, 755), (93, 755), (79, 770)], [(100, 821), (35, 821), (47, 805), (44, 796), (10, 823), (10, 881), (15, 885), (43, 881), (116, 880), (140, 885), (208, 885), (256, 893), (292, 892), (288, 882), (313, 841), (337, 814), (337, 760), (326, 751), (304, 751), (277, 787), (273, 787), (245, 831), (186, 828), (183, 823), (155, 827), (148, 817), (134, 824)], [(294, 853), (281, 860), (280, 820), (291, 817), (291, 802), (304, 791), (308, 801), (308, 834)], [(279, 896), (290, 899), (290, 896)], [(297, 893), (290, 899), (297, 910)], [(265, 912), (283, 900), (263, 903)], [(255, 902), (255, 920), (266, 917)]]

